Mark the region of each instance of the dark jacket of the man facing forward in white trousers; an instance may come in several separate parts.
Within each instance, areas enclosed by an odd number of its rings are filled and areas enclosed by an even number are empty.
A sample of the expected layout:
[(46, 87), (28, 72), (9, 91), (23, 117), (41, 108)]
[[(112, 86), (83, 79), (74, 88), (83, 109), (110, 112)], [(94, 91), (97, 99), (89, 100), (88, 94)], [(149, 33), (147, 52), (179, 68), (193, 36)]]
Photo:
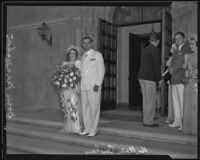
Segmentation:
[(182, 84), (185, 79), (185, 69), (183, 69), (184, 55), (190, 54), (189, 42), (186, 42), (180, 51), (177, 51), (173, 55), (171, 68), (173, 70), (171, 74), (171, 84)]

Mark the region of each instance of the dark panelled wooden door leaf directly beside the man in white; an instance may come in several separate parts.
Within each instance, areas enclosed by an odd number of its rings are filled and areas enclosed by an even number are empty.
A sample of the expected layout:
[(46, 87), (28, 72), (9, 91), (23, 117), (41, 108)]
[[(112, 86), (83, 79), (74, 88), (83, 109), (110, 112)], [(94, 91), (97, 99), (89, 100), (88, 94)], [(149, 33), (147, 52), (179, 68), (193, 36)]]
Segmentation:
[(99, 50), (105, 63), (105, 77), (102, 84), (101, 110), (116, 109), (117, 92), (117, 27), (100, 19)]

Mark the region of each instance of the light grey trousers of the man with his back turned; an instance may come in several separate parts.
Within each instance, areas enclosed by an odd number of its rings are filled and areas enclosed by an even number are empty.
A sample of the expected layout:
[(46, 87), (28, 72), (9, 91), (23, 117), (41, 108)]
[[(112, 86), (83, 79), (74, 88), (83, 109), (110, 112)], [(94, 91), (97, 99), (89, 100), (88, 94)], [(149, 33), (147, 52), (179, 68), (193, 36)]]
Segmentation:
[(143, 95), (143, 124), (154, 124), (156, 108), (156, 82), (139, 80)]

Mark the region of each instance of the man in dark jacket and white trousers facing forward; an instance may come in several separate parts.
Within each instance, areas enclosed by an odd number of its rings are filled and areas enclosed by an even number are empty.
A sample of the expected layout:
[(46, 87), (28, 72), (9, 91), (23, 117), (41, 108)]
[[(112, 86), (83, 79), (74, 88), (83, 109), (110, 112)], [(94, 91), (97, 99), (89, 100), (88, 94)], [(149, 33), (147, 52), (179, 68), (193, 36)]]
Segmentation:
[(175, 42), (178, 47), (177, 52), (174, 53), (172, 58), (169, 72), (171, 74), (172, 84), (172, 100), (174, 108), (174, 122), (170, 124), (170, 127), (178, 127), (182, 130), (182, 118), (183, 118), (183, 92), (185, 79), (184, 55), (190, 54), (189, 42), (185, 41), (185, 35), (183, 32), (177, 32), (175, 34)]

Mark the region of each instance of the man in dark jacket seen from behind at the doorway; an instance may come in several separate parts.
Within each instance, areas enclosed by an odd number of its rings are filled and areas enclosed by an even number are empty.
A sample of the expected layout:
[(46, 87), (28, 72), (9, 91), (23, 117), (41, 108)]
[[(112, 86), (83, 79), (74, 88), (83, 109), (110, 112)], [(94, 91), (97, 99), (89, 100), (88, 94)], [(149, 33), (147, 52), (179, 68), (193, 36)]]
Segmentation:
[(158, 34), (152, 34), (150, 44), (141, 54), (139, 81), (143, 95), (143, 126), (158, 127), (154, 123), (156, 107), (156, 89), (161, 85), (160, 42)]

